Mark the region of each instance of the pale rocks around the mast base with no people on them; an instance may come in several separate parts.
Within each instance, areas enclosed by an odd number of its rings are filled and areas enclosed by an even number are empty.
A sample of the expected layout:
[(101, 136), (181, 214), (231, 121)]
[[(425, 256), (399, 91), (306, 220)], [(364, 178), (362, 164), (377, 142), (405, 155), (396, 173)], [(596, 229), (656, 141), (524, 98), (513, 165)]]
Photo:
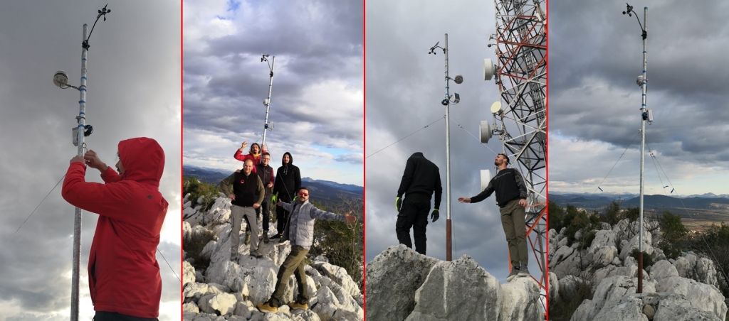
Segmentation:
[(717, 288), (717, 271), (709, 258), (683, 253), (667, 259), (660, 250), (658, 221), (644, 220), (643, 249), (651, 256), (644, 266), (643, 293), (636, 296), (638, 264), (630, 253), (639, 245), (639, 221), (623, 219), (594, 233), (591, 244), (568, 245), (566, 229), (549, 231), (550, 307), (564, 304), (578, 291), (590, 291), (569, 320), (720, 320), (725, 298)]

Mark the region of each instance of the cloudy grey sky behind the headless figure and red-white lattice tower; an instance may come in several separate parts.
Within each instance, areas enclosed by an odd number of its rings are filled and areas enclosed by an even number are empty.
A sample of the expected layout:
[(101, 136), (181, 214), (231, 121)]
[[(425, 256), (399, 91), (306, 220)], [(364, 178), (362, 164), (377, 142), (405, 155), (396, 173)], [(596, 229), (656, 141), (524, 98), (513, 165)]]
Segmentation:
[[(428, 223), (427, 255), (445, 260), (445, 107), (440, 104), (445, 95), (444, 57), (442, 51), (428, 52), (437, 41), (443, 46), (448, 33), (450, 75), (464, 77), (463, 84), (451, 82), (451, 92), (461, 96), (461, 103), (451, 106), (453, 258), (470, 255), (506, 282), (507, 242), (495, 197), (477, 204), (457, 202), (458, 197), (481, 191), (480, 170), (494, 173), (494, 158), (502, 151), (498, 138), (482, 145), (469, 134), (477, 135), (480, 120), (491, 122), (489, 107), (500, 99), (494, 80), (483, 81), (483, 58), (496, 58), (494, 47), (487, 47), (488, 35), (496, 32), (494, 17), (489, 1), (428, 6), (417, 1), (367, 1), (367, 262), (398, 244), (394, 201), (405, 162), (416, 151), (440, 167), (443, 202), (440, 219)], [(534, 256), (529, 256), (529, 268), (537, 275)]]

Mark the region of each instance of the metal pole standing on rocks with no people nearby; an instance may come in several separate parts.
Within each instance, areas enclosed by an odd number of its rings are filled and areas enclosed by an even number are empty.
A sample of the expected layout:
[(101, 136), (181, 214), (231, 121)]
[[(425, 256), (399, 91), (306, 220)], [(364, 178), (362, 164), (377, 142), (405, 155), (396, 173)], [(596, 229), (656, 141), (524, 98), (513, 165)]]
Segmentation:
[(639, 264), (638, 264), (638, 290), (637, 293), (643, 293), (643, 176), (644, 176), (644, 161), (645, 161), (645, 122), (646, 117), (642, 116), (647, 113), (645, 105), (646, 101), (646, 82), (647, 82), (647, 66), (648, 66), (648, 7), (645, 7), (643, 14), (643, 96), (641, 105), (641, 140), (640, 140), (640, 234), (638, 236), (638, 251), (639, 251)]

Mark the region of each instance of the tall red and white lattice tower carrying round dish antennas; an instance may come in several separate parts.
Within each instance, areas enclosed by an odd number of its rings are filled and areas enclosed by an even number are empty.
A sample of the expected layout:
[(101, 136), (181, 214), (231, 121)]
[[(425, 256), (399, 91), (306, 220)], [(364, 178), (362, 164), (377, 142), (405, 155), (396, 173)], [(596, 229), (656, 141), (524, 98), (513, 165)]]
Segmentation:
[[(496, 63), (483, 61), (483, 80), (492, 78), (501, 100), (491, 105), (493, 124), (480, 122), (481, 143), (495, 134), (503, 142), (504, 154), (526, 181), (526, 238), (539, 261), (539, 288), (547, 290), (545, 242), (547, 242), (547, 17), (544, 0), (496, 0)], [(481, 172), (482, 185), (491, 174)], [(534, 238), (530, 237), (534, 235)], [(511, 263), (509, 263), (511, 268)], [(542, 294), (545, 296), (545, 294)]]

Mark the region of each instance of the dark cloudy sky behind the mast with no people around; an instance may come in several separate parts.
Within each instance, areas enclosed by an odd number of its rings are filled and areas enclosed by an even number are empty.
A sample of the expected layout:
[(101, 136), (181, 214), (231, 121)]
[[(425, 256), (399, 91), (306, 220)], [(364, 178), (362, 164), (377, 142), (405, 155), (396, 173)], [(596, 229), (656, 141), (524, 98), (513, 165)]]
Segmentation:
[[(643, 43), (625, 1), (550, 3), (550, 191), (639, 192)], [(648, 7), (646, 194), (728, 194), (725, 1), (630, 2)], [(631, 140), (634, 142), (631, 145)], [(659, 166), (660, 165), (660, 166)], [(661, 170), (663, 167), (663, 170)], [(672, 186), (666, 179), (666, 175)], [(659, 175), (660, 173), (660, 175)], [(670, 195), (670, 194), (669, 194)]]

